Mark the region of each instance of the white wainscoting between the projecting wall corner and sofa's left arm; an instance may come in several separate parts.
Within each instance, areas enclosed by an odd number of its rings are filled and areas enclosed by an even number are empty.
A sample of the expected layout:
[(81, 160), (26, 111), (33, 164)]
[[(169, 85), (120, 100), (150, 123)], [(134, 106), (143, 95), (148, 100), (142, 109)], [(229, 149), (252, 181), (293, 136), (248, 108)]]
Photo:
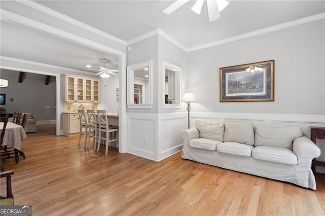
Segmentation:
[(187, 129), (185, 113), (159, 114), (159, 161), (182, 150), (183, 140), (180, 132), (185, 129)]

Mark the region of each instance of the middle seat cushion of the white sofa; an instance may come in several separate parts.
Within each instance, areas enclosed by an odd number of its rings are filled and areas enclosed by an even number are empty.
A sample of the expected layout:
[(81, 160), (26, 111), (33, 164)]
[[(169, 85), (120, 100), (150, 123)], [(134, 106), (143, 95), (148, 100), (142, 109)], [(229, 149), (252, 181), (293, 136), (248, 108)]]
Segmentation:
[(251, 157), (253, 148), (253, 146), (238, 142), (223, 142), (217, 146), (217, 152), (241, 157)]

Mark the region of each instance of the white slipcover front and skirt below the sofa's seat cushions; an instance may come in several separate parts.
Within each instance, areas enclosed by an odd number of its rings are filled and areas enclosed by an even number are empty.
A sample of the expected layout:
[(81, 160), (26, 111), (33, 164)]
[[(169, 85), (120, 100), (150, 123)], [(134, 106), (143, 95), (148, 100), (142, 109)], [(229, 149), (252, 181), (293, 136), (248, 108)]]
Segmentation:
[(244, 172), (316, 190), (316, 181), (310, 167), (240, 157), (217, 151), (207, 151), (183, 145), (182, 158)]

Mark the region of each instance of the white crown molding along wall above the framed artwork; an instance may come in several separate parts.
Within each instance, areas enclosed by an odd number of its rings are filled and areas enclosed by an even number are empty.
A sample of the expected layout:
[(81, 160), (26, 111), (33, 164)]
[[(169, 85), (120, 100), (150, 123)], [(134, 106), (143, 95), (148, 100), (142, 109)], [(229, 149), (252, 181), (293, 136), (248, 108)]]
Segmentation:
[(189, 48), (187, 51), (191, 52), (191, 51), (201, 50), (201, 49), (205, 49), (205, 48), (208, 48), (208, 47), (213, 47), (213, 46), (217, 46), (217, 45), (220, 45), (220, 44), (225, 44), (225, 43), (229, 43), (229, 42), (233, 42), (233, 41), (238, 41), (238, 40), (241, 40), (241, 39), (254, 37), (254, 36), (259, 35), (259, 34), (269, 33), (269, 32), (272, 32), (272, 31), (277, 31), (277, 30), (280, 30), (280, 29), (289, 28), (289, 27), (293, 27), (293, 26), (296, 26), (296, 25), (300, 25), (300, 24), (320, 20), (320, 19), (325, 19), (325, 13), (320, 13), (320, 14), (316, 14), (316, 15), (313, 15), (313, 16), (309, 16), (309, 17), (305, 17), (305, 18), (285, 22), (285, 23), (282, 23), (282, 24), (274, 25), (274, 26), (271, 26), (271, 27), (262, 28), (262, 29), (259, 29), (259, 30), (256, 30), (256, 31), (251, 31), (251, 32), (244, 33), (244, 34), (239, 34), (239, 35), (236, 35), (234, 37), (227, 38), (227, 39), (224, 39), (224, 40), (215, 41), (215, 42), (212, 42), (212, 43), (209, 43), (209, 44), (206, 44), (206, 45)]

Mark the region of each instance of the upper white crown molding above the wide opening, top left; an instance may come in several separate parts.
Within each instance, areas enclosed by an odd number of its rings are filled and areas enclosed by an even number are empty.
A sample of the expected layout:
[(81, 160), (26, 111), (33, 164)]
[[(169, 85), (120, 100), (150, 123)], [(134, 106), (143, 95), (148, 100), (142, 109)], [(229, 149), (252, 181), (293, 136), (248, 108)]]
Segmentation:
[(72, 25), (78, 26), (78, 27), (80, 27), (82, 29), (85, 29), (87, 31), (98, 34), (101, 37), (104, 37), (106, 39), (112, 40), (112, 41), (114, 41), (116, 43), (119, 43), (119, 44), (122, 44), (122, 45), (126, 46), (126, 41), (123, 41), (123, 40), (121, 40), (119, 38), (116, 38), (111, 34), (108, 34), (108, 33), (104, 32), (104, 31), (101, 31), (101, 30), (99, 30), (97, 28), (94, 28), (94, 27), (92, 27), (90, 25), (87, 25), (87, 24), (85, 24), (83, 22), (80, 22), (80, 21), (78, 21), (76, 19), (73, 19), (73, 18), (71, 18), (69, 16), (61, 14), (61, 13), (59, 13), (57, 11), (54, 11), (54, 10), (52, 10), (50, 8), (47, 8), (47, 7), (45, 7), (45, 6), (41, 5), (41, 4), (38, 4), (38, 3), (30, 1), (30, 0), (25, 0), (25, 1), (15, 0), (15, 1), (20, 3), (20, 4), (23, 4), (25, 6), (28, 6), (28, 7), (32, 8), (32, 9), (38, 10), (38, 11), (40, 11), (42, 13), (45, 13), (47, 15), (50, 15), (50, 16), (55, 17), (57, 19), (60, 19), (62, 21), (68, 22), (68, 23), (70, 23)]

